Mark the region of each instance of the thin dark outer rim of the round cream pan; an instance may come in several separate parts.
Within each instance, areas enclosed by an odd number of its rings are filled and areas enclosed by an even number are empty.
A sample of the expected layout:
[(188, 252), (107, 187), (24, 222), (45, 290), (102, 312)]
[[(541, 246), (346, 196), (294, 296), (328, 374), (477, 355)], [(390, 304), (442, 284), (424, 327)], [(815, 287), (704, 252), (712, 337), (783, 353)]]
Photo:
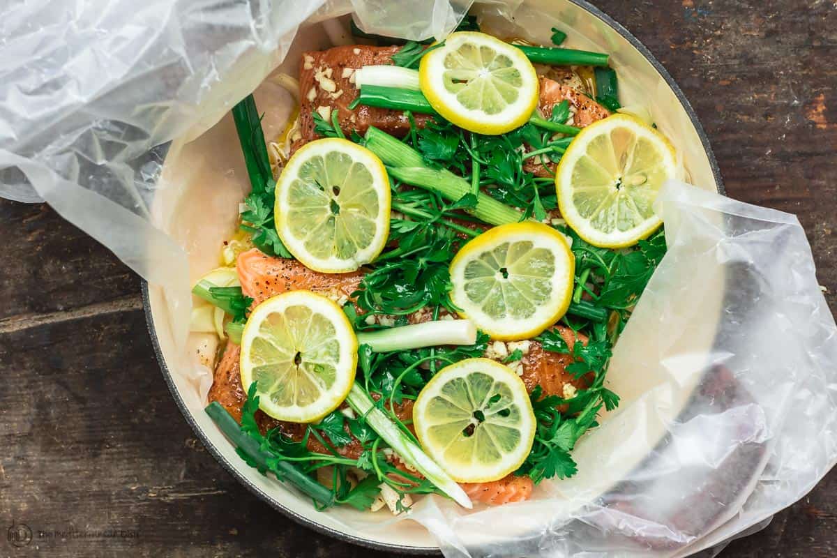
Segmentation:
[[(647, 49), (644, 44), (639, 42), (639, 39), (634, 37), (632, 33), (628, 31), (628, 29), (624, 28), (621, 23), (614, 20), (608, 16), (607, 13), (604, 13), (602, 10), (593, 6), (593, 4), (588, 3), (586, 0), (569, 0), (569, 2), (577, 5), (580, 8), (592, 13), (594, 16), (602, 20), (604, 23), (608, 25), (608, 27), (613, 28), (617, 33), (622, 35), (628, 42), (634, 46), (635, 49), (639, 50), (639, 53), (647, 59), (651, 65), (660, 73), (660, 75), (665, 79), (665, 83), (674, 91), (677, 100), (680, 101), (680, 105), (686, 110), (686, 114), (689, 116), (689, 120), (691, 124), (695, 127), (698, 137), (701, 139), (701, 145), (703, 146), (703, 150), (706, 152), (706, 157), (709, 159), (709, 164), (712, 170), (712, 175), (715, 179), (717, 191), (721, 194), (726, 194), (723, 181), (721, 179), (721, 170), (718, 167), (717, 160), (715, 158), (715, 154), (712, 151), (709, 138), (706, 136), (706, 131), (703, 129), (700, 120), (698, 120), (695, 110), (692, 108), (691, 103), (689, 100), (686, 99), (686, 95), (683, 94), (683, 91), (680, 90), (680, 86), (675, 82), (675, 79), (671, 77), (668, 71), (665, 69), (663, 64), (660, 64), (660, 61), (655, 58), (654, 54), (651, 54), (650, 50)], [(162, 350), (160, 348), (159, 340), (157, 339), (157, 331), (154, 328), (154, 320), (151, 316), (151, 304), (149, 299), (149, 291), (148, 291), (148, 283), (146, 280), (141, 280), (141, 296), (142, 296), (142, 306), (143, 310), (146, 315), (146, 325), (148, 327), (148, 334), (151, 337), (151, 345), (154, 347), (154, 354), (157, 357), (157, 362), (160, 365), (160, 369), (162, 371), (162, 376), (166, 381), (169, 391), (172, 393), (172, 397), (177, 404), (177, 408), (180, 410), (183, 417), (186, 419), (189, 427), (192, 428), (195, 435), (201, 440), (203, 445), (208, 449), (209, 453), (212, 454), (213, 458), (215, 458), (218, 463), (221, 463), (223, 468), (227, 469), (229, 474), (231, 474), (235, 479), (239, 481), (239, 483), (243, 484), (246, 489), (249, 490), (250, 493), (256, 495), (259, 499), (263, 499), (267, 504), (277, 511), (285, 514), (291, 520), (294, 520), (296, 523), (300, 525), (304, 525), (311, 530), (315, 530), (318, 533), (323, 535), (328, 535), (331, 537), (336, 538), (337, 540), (343, 540), (347, 542), (351, 542), (352, 544), (363, 546), (366, 548), (371, 548), (374, 550), (386, 550), (386, 551), (393, 551), (399, 554), (405, 555), (441, 555), (441, 552), (436, 547), (431, 546), (424, 546), (424, 547), (417, 547), (417, 546), (403, 546), (403, 545), (393, 545), (393, 544), (386, 544), (386, 543), (379, 543), (374, 540), (362, 539), (360, 537), (356, 537), (353, 535), (347, 535), (338, 530), (333, 530), (325, 525), (321, 525), (317, 523), (316, 520), (311, 520), (304, 515), (300, 515), (295, 513), (293, 510), (286, 508), (284, 505), (280, 504), (279, 501), (274, 499), (270, 494), (264, 492), (264, 490), (259, 489), (254, 484), (251, 484), (248, 479), (244, 478), (242, 474), (238, 472), (235, 468), (233, 463), (230, 463), (226, 458), (218, 453), (216, 448), (214, 447), (213, 443), (203, 435), (203, 432), (198, 427), (197, 422), (193, 420), (191, 413), (188, 412), (186, 403), (183, 402), (182, 397), (177, 392), (177, 387), (174, 385), (174, 381), (172, 380), (172, 373), (169, 371), (167, 363), (162, 356)]]

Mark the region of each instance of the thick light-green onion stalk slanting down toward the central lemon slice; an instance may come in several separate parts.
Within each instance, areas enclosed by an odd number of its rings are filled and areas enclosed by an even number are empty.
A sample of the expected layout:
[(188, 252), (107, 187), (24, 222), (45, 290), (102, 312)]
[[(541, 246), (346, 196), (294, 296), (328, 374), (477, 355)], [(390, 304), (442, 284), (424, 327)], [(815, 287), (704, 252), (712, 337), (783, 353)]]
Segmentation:
[[(389, 176), (402, 182), (439, 192), (452, 202), (471, 192), (470, 182), (465, 178), (457, 177), (451, 171), (430, 168), (425, 165), (419, 151), (374, 126), (369, 126), (367, 130), (366, 146), (388, 166)], [(521, 220), (521, 212), (503, 205), (493, 197), (480, 192), (476, 198), (476, 207), (466, 211), (485, 223), (504, 225)]]

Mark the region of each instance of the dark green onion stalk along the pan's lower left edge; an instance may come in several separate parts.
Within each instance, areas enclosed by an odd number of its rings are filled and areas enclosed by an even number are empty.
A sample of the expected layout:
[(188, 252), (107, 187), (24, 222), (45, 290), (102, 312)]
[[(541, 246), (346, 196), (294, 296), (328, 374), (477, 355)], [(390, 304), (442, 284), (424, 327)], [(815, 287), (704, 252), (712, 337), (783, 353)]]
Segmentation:
[(234, 443), (239, 453), (247, 456), (248, 462), (253, 463), (259, 471), (273, 471), (278, 479), (286, 480), (295, 485), (296, 488), (311, 496), (323, 506), (334, 504), (334, 494), (331, 493), (330, 489), (326, 489), (325, 486), (302, 473), (293, 464), (277, 459), (273, 453), (265, 452), (258, 441), (241, 431), (239, 423), (235, 422), (235, 419), (217, 401), (209, 403), (204, 410), (218, 425), (223, 435)]

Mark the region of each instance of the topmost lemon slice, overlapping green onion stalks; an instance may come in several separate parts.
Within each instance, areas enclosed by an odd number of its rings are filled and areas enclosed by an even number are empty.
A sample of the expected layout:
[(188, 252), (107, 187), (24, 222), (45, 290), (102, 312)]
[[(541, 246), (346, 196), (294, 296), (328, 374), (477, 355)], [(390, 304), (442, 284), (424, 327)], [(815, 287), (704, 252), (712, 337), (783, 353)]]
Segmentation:
[(485, 33), (451, 33), (422, 57), (419, 84), (439, 115), (479, 134), (514, 130), (537, 106), (537, 74), (529, 59)]

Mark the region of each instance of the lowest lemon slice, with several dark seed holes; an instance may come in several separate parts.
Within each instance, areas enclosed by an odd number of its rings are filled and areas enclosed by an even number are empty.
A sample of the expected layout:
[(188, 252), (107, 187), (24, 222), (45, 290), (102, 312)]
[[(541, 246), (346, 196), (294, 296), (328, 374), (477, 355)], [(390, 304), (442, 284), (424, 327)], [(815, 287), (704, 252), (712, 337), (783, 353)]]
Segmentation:
[(487, 483), (519, 468), (536, 428), (523, 381), (487, 358), (437, 372), (416, 399), (413, 425), (424, 451), (460, 483)]

